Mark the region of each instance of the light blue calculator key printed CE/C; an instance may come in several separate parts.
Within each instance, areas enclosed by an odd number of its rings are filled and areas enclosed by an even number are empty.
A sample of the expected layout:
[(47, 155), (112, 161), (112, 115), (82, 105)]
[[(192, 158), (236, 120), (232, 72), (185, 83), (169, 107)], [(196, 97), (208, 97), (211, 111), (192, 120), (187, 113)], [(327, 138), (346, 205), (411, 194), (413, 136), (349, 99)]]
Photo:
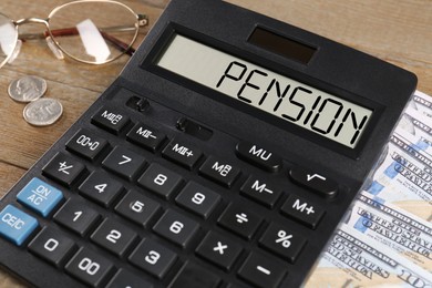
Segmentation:
[(23, 244), (35, 228), (38, 220), (13, 205), (8, 205), (0, 212), (0, 236), (17, 246)]

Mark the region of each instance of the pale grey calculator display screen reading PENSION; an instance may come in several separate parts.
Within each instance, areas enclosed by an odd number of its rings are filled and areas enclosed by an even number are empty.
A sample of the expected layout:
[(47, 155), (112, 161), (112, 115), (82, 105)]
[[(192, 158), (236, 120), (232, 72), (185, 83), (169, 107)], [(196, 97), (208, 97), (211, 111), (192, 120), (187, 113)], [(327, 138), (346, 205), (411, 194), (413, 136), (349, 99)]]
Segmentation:
[(158, 66), (354, 148), (372, 110), (175, 34)]

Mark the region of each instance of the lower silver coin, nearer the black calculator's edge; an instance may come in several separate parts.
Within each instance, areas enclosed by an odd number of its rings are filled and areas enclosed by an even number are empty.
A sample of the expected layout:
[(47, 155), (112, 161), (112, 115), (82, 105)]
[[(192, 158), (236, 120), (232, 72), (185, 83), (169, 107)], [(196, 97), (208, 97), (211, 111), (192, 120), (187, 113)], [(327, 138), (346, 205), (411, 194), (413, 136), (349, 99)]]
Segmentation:
[(60, 119), (63, 106), (55, 99), (43, 97), (27, 104), (22, 114), (29, 124), (48, 126)]

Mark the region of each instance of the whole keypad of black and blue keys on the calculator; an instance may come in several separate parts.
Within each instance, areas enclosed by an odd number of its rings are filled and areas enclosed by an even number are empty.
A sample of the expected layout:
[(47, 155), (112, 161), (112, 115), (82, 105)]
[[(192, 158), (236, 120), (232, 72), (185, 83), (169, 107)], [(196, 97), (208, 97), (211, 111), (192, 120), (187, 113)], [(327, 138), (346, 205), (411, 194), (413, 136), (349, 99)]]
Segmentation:
[(248, 142), (223, 156), (113, 107), (90, 123), (1, 212), (0, 235), (92, 287), (278, 287), (326, 215), (292, 187), (338, 189)]

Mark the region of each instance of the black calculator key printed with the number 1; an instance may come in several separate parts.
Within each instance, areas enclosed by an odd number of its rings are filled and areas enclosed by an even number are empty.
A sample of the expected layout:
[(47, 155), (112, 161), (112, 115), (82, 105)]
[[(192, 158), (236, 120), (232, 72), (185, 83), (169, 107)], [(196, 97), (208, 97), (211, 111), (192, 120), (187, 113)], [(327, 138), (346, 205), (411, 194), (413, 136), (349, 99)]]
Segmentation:
[(84, 236), (97, 222), (100, 215), (78, 200), (68, 200), (54, 215), (54, 220), (66, 228)]

